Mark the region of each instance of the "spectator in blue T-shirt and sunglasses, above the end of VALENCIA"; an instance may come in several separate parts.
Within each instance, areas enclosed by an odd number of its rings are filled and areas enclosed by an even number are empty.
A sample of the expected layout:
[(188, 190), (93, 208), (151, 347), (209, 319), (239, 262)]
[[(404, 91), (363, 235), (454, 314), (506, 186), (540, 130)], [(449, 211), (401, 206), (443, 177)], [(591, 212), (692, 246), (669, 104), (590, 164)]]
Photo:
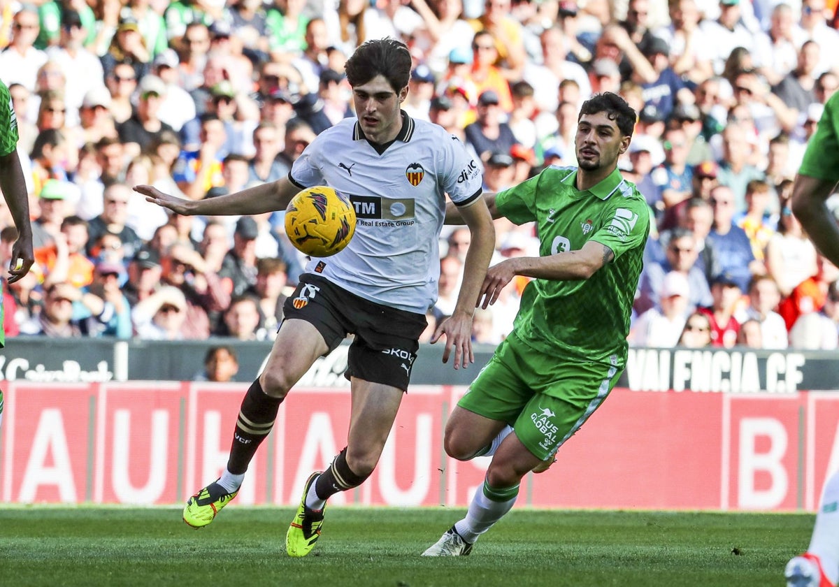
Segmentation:
[(708, 241), (714, 250), (717, 273), (730, 273), (741, 289), (748, 288), (753, 275), (762, 275), (766, 269), (754, 258), (752, 243), (746, 231), (734, 224), (734, 194), (725, 185), (711, 190), (711, 208), (714, 225)]

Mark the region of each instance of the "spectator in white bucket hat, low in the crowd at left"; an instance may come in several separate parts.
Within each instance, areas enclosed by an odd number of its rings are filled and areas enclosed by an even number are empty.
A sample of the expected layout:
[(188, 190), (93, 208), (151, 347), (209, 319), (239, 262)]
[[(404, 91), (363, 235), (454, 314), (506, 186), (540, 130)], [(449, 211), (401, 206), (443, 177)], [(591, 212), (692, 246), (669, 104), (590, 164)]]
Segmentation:
[(133, 306), (134, 331), (144, 340), (185, 340), (186, 309), (183, 292), (166, 285)]

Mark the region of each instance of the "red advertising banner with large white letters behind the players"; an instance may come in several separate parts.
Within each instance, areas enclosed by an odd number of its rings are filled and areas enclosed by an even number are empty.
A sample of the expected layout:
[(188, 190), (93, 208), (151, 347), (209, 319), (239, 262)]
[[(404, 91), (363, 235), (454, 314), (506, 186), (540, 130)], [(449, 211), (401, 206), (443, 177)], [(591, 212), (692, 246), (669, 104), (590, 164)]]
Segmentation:
[[(0, 429), (5, 502), (172, 504), (227, 462), (247, 384), (9, 382)], [(416, 386), (404, 397), (378, 468), (335, 504), (465, 506), (488, 458), (442, 446), (465, 387)], [(346, 387), (301, 387), (281, 405), (232, 505), (293, 505), (310, 472), (347, 444)], [(839, 394), (638, 392), (618, 388), (528, 475), (519, 504), (813, 511), (839, 468)]]

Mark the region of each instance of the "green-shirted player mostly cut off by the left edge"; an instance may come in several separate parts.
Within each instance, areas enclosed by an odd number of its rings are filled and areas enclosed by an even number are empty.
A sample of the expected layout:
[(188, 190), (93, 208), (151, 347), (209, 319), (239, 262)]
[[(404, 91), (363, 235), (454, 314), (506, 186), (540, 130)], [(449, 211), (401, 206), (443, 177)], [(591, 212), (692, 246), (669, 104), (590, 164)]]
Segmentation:
[[(12, 247), (8, 283), (14, 283), (29, 272), (34, 262), (32, 225), (29, 224), (29, 198), (18, 158), (18, 118), (14, 114), (8, 86), (0, 80), (0, 190), (12, 213), (18, 240)], [(2, 287), (2, 283), (0, 283)], [(3, 333), (3, 291), (0, 289), (0, 348), (6, 344)], [(0, 390), (0, 423), (3, 423), (3, 390)]]

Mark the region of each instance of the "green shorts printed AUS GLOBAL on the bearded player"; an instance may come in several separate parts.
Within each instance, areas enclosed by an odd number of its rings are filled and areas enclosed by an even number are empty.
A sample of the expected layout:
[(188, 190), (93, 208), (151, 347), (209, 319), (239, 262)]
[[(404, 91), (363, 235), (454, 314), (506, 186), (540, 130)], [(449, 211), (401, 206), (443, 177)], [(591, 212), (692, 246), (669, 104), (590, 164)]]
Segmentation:
[(458, 406), (506, 422), (531, 453), (552, 458), (618, 382), (623, 366), (546, 356), (509, 335)]

